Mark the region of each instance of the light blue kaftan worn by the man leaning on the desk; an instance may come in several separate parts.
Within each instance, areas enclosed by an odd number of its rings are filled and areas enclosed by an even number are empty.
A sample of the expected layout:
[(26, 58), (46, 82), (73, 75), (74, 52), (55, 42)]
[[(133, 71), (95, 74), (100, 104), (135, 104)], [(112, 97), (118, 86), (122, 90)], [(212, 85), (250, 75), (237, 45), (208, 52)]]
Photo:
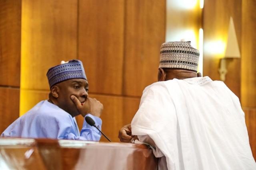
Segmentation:
[[(101, 130), (102, 120), (99, 117), (90, 114), (86, 116), (90, 116)], [(99, 141), (101, 134), (85, 120), (80, 133), (76, 121), (69, 113), (44, 100), (16, 119), (1, 137)]]

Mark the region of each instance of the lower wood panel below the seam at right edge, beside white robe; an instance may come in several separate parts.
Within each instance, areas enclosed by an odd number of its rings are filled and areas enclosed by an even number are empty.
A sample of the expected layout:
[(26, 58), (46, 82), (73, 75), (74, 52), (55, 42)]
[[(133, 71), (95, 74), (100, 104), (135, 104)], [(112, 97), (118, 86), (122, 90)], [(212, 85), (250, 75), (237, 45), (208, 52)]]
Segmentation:
[(256, 160), (256, 108), (244, 108), (245, 121), (248, 129), (252, 154)]

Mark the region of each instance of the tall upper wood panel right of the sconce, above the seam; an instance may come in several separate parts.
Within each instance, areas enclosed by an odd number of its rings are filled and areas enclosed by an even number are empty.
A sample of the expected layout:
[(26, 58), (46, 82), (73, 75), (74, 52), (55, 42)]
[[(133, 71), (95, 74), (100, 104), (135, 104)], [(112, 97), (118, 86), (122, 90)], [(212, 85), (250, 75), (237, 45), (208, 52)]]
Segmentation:
[(243, 107), (256, 107), (255, 7), (255, 0), (242, 0), (241, 93)]

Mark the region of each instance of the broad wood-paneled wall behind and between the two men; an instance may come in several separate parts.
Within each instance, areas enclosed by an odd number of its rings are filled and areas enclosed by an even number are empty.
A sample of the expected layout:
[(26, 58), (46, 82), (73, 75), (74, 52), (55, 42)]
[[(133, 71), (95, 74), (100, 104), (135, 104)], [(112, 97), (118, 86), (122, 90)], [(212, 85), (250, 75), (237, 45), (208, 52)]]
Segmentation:
[[(48, 98), (48, 68), (79, 59), (89, 96), (104, 105), (102, 130), (119, 141), (143, 89), (157, 79), (165, 0), (22, 0), (21, 32), (20, 113)], [(77, 121), (81, 128), (83, 117)]]

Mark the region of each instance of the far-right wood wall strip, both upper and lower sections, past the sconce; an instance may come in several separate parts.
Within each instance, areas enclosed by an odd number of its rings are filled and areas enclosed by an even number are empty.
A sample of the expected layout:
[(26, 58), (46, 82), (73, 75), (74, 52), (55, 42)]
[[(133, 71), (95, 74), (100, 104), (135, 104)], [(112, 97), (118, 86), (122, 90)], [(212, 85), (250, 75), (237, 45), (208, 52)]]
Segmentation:
[(256, 160), (256, 1), (242, 0), (241, 102), (246, 115), (250, 145)]

